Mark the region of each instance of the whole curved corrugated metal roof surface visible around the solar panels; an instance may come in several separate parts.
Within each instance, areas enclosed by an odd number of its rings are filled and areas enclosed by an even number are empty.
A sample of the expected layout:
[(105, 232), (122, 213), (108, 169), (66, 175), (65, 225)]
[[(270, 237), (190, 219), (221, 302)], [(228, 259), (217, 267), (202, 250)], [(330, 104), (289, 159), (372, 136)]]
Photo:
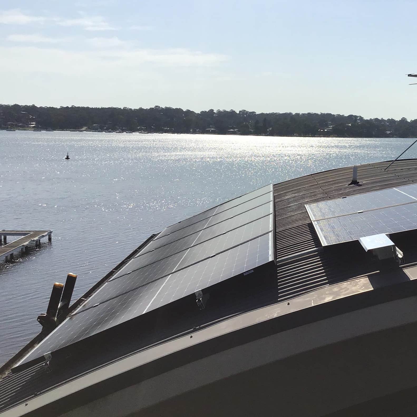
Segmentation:
[[(357, 241), (323, 248), (304, 205), (417, 183), (417, 160), (397, 161), (384, 171), (388, 163), (358, 166), (361, 186), (348, 185), (352, 179), (352, 167), (315, 173), (274, 185), (276, 272), (271, 271), (270, 274), (264, 271), (256, 279), (251, 274), (248, 275), (251, 279), (246, 281), (239, 277), (219, 283), (212, 289), (210, 308), (198, 313), (195, 310), (195, 297), (185, 298), (151, 311), (149, 315), (146, 314), (146, 320), (115, 327), (111, 338), (107, 336), (107, 339), (103, 339), (106, 335), (89, 338), (88, 343), (71, 348), (70, 357), (76, 360), (68, 362), (62, 357), (59, 373), (53, 370), (48, 372), (43, 364), (34, 364), (29, 369), (9, 374), (0, 380), (0, 412), (68, 379), (90, 372), (95, 367), (180, 334), (188, 334), (193, 329), (330, 284), (374, 273), (377, 265), (369, 261), (368, 254)], [(416, 231), (390, 236), (404, 251), (407, 262), (417, 261), (416, 236)], [(131, 259), (134, 254), (126, 259)], [(112, 273), (85, 296), (93, 294)], [(75, 307), (80, 302), (75, 302)], [(110, 348), (108, 342), (111, 340), (117, 342), (112, 343)]]

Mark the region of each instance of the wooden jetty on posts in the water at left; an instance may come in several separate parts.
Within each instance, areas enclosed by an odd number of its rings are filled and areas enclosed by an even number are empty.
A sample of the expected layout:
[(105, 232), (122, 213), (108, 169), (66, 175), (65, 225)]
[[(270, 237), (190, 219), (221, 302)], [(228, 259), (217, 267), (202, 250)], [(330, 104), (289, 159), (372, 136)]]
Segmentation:
[[(7, 243), (7, 236), (22, 236), (19, 239)], [(52, 230), (1, 230), (0, 231), (0, 260), (11, 261), (13, 256), (19, 251), (25, 254), (29, 250), (29, 245), (35, 243), (40, 246), (40, 239), (48, 236), (48, 241), (52, 241)]]

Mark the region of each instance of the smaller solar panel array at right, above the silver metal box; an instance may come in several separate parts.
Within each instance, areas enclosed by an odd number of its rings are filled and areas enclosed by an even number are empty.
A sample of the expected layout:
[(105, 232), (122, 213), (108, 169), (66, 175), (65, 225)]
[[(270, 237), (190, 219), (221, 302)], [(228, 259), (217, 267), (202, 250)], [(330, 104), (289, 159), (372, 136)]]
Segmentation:
[(417, 229), (417, 184), (307, 204), (323, 246)]

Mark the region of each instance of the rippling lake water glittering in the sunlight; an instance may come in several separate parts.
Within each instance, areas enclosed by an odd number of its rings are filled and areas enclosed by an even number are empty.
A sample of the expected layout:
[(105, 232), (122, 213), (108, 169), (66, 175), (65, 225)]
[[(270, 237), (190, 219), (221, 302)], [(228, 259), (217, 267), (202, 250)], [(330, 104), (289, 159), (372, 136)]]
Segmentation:
[(0, 264), (0, 364), (40, 331), (68, 272), (75, 300), (170, 224), (271, 182), (392, 159), (413, 140), (0, 131), (0, 229), (53, 230), (52, 244)]

